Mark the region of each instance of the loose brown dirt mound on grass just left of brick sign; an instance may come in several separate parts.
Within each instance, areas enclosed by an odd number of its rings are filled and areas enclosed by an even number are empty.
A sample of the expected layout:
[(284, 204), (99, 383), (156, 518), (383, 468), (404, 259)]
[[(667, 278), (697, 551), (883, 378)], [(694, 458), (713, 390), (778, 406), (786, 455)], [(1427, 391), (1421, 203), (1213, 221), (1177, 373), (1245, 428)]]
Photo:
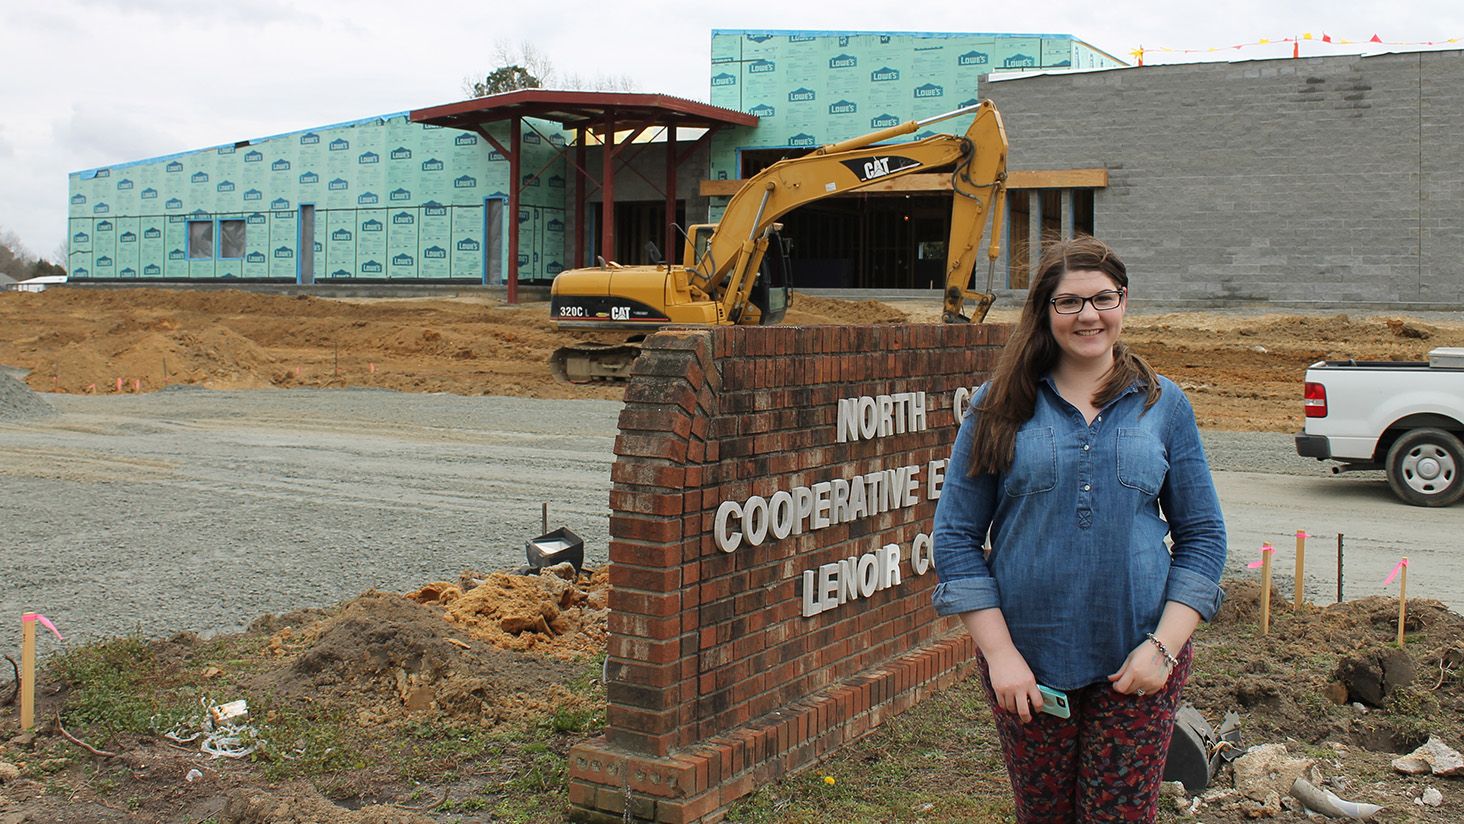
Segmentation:
[(258, 686), (285, 700), (328, 697), (362, 724), (441, 711), (463, 720), (512, 720), (571, 701), (564, 683), (583, 666), (502, 650), (444, 621), (444, 610), (369, 591), (338, 613), (283, 626), (269, 647), (285, 666)]

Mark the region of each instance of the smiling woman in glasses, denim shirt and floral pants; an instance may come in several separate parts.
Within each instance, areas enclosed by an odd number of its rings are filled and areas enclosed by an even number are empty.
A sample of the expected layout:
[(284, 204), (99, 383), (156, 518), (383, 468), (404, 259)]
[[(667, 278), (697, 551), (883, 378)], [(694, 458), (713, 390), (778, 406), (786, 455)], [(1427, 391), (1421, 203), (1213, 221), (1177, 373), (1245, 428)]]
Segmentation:
[(979, 648), (1023, 823), (1155, 818), (1190, 634), (1224, 597), (1195, 413), (1120, 342), (1127, 290), (1099, 240), (1045, 250), (935, 509), (935, 610)]

